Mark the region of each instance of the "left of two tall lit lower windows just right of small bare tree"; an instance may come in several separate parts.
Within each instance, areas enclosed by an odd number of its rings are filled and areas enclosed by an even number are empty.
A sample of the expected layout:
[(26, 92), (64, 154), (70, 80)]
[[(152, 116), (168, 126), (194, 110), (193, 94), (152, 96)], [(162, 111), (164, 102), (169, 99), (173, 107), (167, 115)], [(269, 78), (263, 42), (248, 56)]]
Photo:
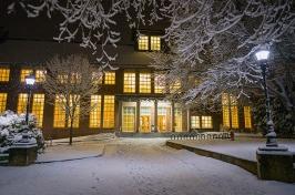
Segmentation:
[(101, 95), (91, 95), (90, 127), (101, 126)]

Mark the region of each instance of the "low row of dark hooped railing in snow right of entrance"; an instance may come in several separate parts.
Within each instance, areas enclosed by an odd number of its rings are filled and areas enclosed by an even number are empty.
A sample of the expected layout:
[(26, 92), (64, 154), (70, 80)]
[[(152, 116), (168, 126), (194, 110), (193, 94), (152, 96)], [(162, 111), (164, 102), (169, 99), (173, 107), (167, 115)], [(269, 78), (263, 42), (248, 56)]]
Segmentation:
[(185, 133), (173, 133), (170, 136), (171, 140), (226, 140), (233, 138), (231, 132), (211, 132), (211, 133), (199, 133), (199, 132), (185, 132)]

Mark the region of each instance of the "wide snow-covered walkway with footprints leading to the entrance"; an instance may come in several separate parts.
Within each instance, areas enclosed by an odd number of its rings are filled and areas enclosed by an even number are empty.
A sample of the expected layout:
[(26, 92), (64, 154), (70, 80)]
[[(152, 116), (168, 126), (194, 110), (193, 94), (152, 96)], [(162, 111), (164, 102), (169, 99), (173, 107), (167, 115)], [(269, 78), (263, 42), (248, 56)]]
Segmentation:
[(164, 144), (120, 138), (98, 158), (0, 167), (0, 195), (294, 195), (294, 184)]

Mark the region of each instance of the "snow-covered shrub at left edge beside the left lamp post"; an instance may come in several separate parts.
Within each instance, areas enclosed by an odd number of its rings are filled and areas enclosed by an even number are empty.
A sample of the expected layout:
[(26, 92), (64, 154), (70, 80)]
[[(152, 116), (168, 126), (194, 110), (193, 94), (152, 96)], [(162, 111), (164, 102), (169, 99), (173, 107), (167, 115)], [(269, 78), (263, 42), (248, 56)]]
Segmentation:
[(26, 124), (24, 114), (6, 111), (0, 115), (0, 147), (23, 142), (24, 136), (29, 143), (37, 143), (39, 152), (44, 150), (44, 138), (33, 115), (29, 115), (29, 125)]

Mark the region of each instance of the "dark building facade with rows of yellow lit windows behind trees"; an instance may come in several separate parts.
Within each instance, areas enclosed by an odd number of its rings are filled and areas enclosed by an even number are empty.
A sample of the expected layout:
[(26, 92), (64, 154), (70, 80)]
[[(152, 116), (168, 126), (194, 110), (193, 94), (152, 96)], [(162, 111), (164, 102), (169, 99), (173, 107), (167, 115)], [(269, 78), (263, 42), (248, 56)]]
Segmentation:
[[(100, 92), (91, 95), (91, 104), (95, 104), (95, 109), (88, 116), (74, 121), (74, 136), (104, 132), (144, 135), (192, 130), (253, 131), (251, 106), (240, 106), (230, 94), (222, 98), (221, 113), (204, 113), (167, 101), (165, 94), (180, 86), (167, 86), (167, 83), (160, 82), (163, 75), (149, 66), (150, 59), (144, 54), (159, 50), (161, 39), (156, 34), (141, 35), (133, 45), (118, 47), (119, 58), (113, 63), (118, 69), (104, 71), (98, 83), (101, 85)], [(47, 94), (42, 89), (45, 79), (42, 63), (55, 54), (81, 52), (75, 43), (35, 40), (8, 40), (1, 43), (0, 112), (12, 110), (26, 113), (28, 90), (24, 79), (34, 74), (29, 112), (35, 115), (45, 138), (67, 137), (67, 119), (59, 100), (53, 105), (47, 103)]]

